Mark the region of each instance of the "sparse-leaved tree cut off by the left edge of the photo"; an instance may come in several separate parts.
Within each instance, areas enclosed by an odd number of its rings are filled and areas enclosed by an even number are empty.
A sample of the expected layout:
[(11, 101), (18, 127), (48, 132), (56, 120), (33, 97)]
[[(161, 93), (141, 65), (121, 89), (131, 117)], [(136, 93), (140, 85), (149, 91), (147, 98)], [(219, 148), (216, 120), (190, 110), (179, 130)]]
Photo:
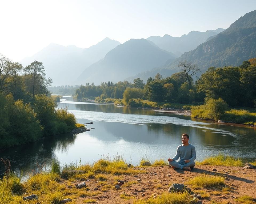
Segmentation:
[(16, 84), (18, 72), (21, 69), (21, 63), (11, 62), (8, 58), (0, 54), (0, 92)]

